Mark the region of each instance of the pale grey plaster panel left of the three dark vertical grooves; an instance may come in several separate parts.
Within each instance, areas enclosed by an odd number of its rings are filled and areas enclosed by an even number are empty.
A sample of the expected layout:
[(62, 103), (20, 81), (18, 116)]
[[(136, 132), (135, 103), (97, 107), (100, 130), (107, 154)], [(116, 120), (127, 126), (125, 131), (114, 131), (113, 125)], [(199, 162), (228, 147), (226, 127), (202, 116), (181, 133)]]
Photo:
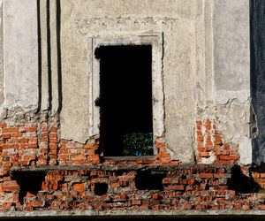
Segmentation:
[(4, 108), (38, 106), (37, 8), (34, 0), (4, 0)]

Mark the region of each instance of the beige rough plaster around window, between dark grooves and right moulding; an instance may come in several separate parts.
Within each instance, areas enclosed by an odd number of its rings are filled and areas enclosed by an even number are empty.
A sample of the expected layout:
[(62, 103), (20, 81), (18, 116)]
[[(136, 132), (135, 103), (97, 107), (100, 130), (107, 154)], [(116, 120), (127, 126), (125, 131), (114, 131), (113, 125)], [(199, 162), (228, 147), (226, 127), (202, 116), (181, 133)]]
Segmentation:
[(193, 8), (193, 1), (61, 1), (62, 137), (81, 142), (88, 139), (87, 85), (94, 56), (90, 39), (158, 32), (164, 38), (168, 148), (173, 158), (193, 160)]

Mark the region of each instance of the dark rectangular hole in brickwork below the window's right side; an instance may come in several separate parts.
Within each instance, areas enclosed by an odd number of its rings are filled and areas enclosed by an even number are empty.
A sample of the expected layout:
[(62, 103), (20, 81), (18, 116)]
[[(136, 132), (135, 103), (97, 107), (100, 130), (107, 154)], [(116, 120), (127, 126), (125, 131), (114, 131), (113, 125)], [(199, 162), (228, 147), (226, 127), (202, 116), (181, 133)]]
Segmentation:
[(163, 190), (164, 173), (153, 173), (151, 171), (138, 171), (135, 177), (135, 186), (139, 190)]

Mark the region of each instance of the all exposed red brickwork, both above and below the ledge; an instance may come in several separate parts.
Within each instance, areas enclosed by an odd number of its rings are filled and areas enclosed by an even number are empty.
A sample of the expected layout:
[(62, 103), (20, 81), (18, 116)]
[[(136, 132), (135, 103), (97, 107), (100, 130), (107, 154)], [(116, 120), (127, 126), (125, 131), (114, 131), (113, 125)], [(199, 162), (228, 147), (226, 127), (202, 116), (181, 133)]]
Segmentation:
[[(56, 123), (2, 123), (0, 210), (265, 210), (263, 199), (254, 197), (265, 187), (264, 173), (241, 167), (239, 177), (233, 178), (233, 167), (239, 164), (237, 151), (225, 143), (215, 121), (196, 124), (196, 160), (202, 163), (204, 158), (214, 156), (212, 164), (185, 167), (180, 161), (172, 161), (163, 138), (155, 139), (154, 158), (108, 160), (97, 154), (99, 137), (82, 144), (60, 140)], [(116, 170), (111, 169), (114, 165)], [(150, 179), (150, 183), (161, 187), (137, 186), (137, 166), (143, 165), (160, 168), (157, 180)], [(135, 168), (118, 169), (121, 166)], [(31, 176), (30, 168), (44, 172), (38, 191), (27, 190), (27, 185), (19, 183), (18, 177), (25, 174), (23, 168), (29, 168), (27, 176)], [(252, 185), (242, 191), (232, 185), (237, 179)], [(21, 196), (23, 191), (25, 195)]]

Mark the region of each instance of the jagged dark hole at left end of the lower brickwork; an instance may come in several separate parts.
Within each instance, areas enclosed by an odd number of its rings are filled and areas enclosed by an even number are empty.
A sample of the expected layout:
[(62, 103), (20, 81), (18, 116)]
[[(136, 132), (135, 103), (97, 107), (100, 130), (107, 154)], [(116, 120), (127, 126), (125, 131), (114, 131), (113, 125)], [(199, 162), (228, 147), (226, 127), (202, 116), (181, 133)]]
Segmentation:
[(42, 190), (42, 181), (45, 180), (46, 173), (43, 171), (15, 171), (11, 178), (17, 180), (19, 191), (19, 202), (24, 204), (27, 192), (36, 195)]

